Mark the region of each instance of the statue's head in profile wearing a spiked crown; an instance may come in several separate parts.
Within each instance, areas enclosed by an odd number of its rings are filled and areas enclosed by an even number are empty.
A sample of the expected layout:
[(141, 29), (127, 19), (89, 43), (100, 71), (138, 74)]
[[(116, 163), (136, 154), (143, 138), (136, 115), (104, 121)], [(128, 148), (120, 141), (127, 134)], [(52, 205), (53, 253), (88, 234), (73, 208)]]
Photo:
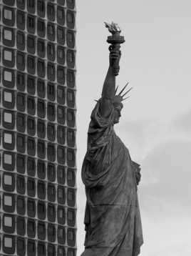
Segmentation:
[(119, 122), (119, 119), (120, 119), (120, 116), (121, 116), (120, 112), (121, 112), (121, 109), (123, 109), (123, 103), (122, 103), (123, 100), (128, 99), (128, 97), (126, 97), (124, 99), (124, 96), (126, 94), (128, 94), (128, 92), (130, 92), (130, 90), (132, 89), (132, 87), (131, 87), (130, 89), (128, 89), (127, 92), (125, 92), (123, 95), (121, 95), (127, 86), (128, 86), (128, 84), (125, 84), (125, 87), (123, 87), (123, 89), (120, 91), (120, 93), (118, 95), (116, 95), (118, 87), (115, 89), (115, 97), (113, 99), (114, 124), (117, 124)]

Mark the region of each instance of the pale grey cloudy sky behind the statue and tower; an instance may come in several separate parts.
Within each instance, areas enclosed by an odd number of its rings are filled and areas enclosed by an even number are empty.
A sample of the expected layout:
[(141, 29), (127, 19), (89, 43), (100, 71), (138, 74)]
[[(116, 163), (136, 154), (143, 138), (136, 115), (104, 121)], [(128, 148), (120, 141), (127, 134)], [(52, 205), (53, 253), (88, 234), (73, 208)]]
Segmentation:
[(83, 252), (86, 195), (81, 164), (94, 99), (108, 69), (109, 35), (103, 22), (122, 29), (120, 74), (130, 82), (115, 131), (141, 165), (138, 188), (143, 222), (141, 256), (191, 255), (191, 1), (78, 0), (77, 246)]

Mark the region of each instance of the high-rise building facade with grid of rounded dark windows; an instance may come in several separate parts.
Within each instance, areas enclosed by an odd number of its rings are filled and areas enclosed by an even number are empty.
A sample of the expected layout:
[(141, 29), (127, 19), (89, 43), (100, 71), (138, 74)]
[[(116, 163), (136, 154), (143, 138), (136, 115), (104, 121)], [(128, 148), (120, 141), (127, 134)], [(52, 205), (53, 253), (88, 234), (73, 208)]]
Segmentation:
[(0, 14), (0, 255), (75, 256), (75, 1)]

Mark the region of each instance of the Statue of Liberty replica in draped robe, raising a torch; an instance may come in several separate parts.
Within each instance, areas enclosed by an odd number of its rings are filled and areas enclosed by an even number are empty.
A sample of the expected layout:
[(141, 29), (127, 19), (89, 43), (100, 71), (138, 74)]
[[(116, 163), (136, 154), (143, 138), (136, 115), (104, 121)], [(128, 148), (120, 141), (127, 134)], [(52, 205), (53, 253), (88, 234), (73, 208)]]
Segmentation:
[[(118, 92), (120, 36), (117, 24), (107, 24), (109, 68), (101, 97), (96, 101), (88, 128), (88, 147), (82, 179), (86, 186), (85, 250), (81, 256), (137, 256), (143, 245), (137, 186), (140, 165), (133, 162), (115, 134), (128, 84)], [(126, 95), (126, 96), (125, 96)]]

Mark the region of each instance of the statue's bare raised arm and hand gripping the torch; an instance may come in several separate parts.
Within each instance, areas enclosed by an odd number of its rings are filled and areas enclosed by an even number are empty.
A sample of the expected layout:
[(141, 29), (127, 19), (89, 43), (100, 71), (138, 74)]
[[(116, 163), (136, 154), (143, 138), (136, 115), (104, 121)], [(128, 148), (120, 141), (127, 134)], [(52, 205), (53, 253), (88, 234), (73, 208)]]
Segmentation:
[(115, 96), (115, 72), (113, 71), (113, 63), (115, 59), (120, 58), (120, 51), (110, 52), (110, 65), (105, 77), (102, 89), (102, 100), (100, 102), (100, 115), (102, 117), (108, 117), (111, 111), (113, 98)]

